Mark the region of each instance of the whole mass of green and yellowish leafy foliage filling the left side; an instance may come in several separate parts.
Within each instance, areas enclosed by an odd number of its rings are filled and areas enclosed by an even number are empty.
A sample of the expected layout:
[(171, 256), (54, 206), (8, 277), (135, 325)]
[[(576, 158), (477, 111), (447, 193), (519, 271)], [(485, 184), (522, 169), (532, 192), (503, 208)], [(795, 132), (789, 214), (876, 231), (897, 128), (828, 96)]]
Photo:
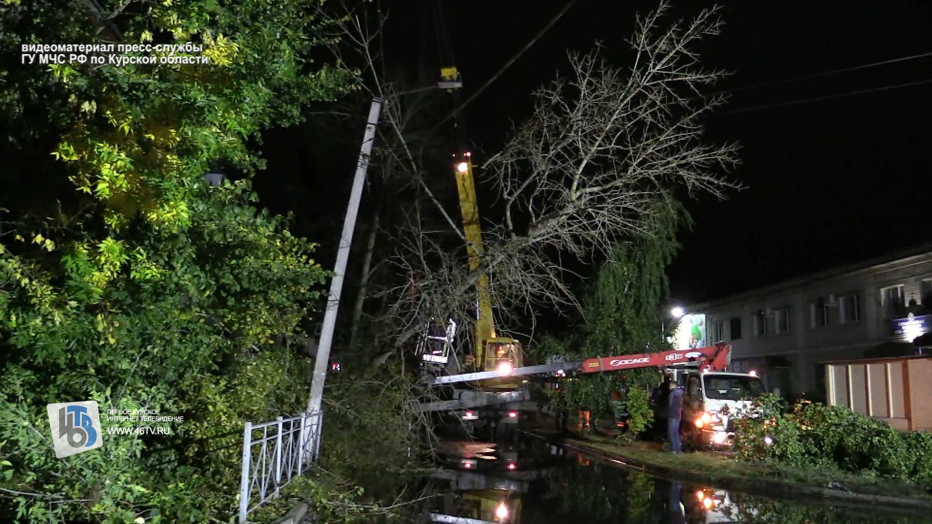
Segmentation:
[[(301, 408), (307, 363), (273, 339), (302, 335), (326, 271), (248, 181), (202, 176), (254, 174), (260, 131), (353, 76), (314, 62), (316, 2), (92, 4), (4, 2), (0, 41), (194, 43), (209, 63), (0, 59), (0, 519), (226, 520), (242, 422)], [(45, 406), (83, 400), (103, 448), (56, 459)], [(129, 425), (107, 409), (140, 408), (185, 421), (106, 434)]]

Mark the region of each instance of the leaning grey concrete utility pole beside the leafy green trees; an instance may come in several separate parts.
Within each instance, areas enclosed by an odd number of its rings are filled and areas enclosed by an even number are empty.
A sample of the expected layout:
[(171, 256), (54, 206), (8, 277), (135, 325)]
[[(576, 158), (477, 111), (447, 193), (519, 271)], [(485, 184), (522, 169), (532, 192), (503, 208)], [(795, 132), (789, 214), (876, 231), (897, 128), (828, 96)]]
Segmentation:
[(347, 205), (346, 218), (343, 220), (343, 234), (340, 237), (339, 249), (336, 252), (334, 280), (330, 283), (330, 296), (327, 298), (327, 310), (323, 316), (321, 340), (317, 345), (317, 360), (314, 362), (314, 378), (310, 382), (308, 413), (321, 409), (323, 381), (327, 378), (327, 365), (330, 363), (330, 345), (334, 341), (336, 311), (339, 310), (340, 306), (343, 276), (347, 270), (349, 247), (352, 245), (352, 233), (356, 228), (356, 215), (359, 214), (359, 203), (363, 198), (365, 172), (369, 167), (369, 155), (372, 153), (372, 143), (376, 140), (376, 126), (381, 111), (382, 100), (373, 99), (369, 108), (369, 119), (365, 125), (363, 147), (359, 152), (359, 163), (356, 165), (356, 176), (353, 178), (352, 191), (349, 193), (349, 205)]

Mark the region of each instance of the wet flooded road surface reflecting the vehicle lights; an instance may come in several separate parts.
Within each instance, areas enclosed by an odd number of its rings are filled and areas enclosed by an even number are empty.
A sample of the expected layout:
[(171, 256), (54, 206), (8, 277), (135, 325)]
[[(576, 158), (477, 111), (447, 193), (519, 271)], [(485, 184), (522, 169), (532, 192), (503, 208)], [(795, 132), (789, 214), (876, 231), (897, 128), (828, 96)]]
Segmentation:
[(932, 522), (751, 497), (648, 476), (521, 434), (447, 441), (429, 520), (461, 524)]

